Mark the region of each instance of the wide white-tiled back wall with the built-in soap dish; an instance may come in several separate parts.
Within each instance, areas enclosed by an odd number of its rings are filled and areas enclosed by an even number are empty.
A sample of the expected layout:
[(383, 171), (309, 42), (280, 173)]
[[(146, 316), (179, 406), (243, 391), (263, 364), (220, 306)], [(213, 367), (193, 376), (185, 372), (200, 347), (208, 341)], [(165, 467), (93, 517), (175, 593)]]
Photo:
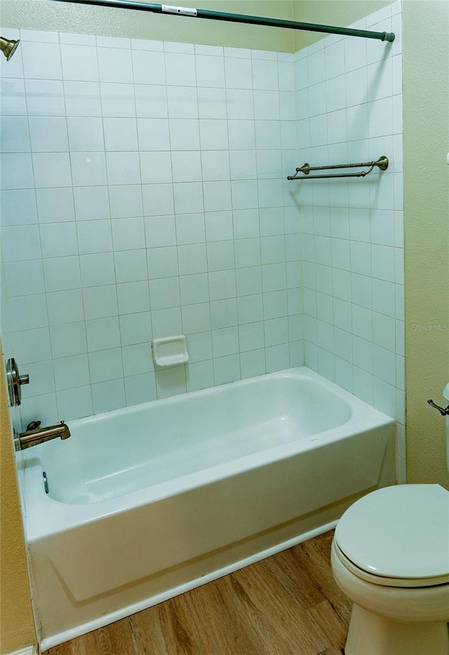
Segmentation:
[[(22, 422), (303, 363), (294, 56), (4, 30), (1, 332)], [(154, 371), (152, 337), (187, 365)]]

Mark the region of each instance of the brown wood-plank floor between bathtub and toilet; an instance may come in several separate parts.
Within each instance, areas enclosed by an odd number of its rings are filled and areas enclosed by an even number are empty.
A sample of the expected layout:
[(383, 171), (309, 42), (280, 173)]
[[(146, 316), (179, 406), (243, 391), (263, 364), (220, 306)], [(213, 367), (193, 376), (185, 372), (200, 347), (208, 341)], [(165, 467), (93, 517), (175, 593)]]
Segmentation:
[(341, 655), (350, 604), (328, 532), (123, 618), (49, 655)]

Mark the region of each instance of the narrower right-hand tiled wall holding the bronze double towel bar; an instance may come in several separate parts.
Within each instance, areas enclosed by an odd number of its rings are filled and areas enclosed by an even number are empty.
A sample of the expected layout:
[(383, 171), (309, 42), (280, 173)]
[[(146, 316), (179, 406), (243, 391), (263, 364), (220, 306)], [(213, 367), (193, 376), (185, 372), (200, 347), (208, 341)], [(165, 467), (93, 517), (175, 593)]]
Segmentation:
[[(369, 162), (363, 179), (295, 182), (302, 216), (306, 364), (394, 416), (405, 470), (402, 56), (399, 4), (296, 54), (299, 162)], [(337, 172), (337, 171), (336, 171)]]

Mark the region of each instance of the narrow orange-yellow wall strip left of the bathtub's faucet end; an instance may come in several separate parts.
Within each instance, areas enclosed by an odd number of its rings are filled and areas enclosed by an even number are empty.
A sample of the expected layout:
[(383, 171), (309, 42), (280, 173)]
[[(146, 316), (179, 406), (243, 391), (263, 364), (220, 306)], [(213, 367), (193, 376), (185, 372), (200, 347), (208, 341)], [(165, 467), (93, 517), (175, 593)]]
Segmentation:
[[(1, 343), (0, 343), (1, 349)], [(4, 372), (0, 374), (0, 653), (34, 644), (27, 564), (15, 480), (11, 422)]]

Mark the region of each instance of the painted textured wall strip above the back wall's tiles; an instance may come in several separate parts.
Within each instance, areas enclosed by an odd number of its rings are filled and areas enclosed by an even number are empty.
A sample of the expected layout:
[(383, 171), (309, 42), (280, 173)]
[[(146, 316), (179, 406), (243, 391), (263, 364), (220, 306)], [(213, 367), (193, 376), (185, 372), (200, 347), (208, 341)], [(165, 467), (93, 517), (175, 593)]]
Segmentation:
[[(1, 23), (6, 27), (293, 52), (293, 32), (273, 27), (51, 0), (0, 0), (0, 4)], [(182, 6), (196, 4), (184, 2)], [(199, 7), (209, 11), (292, 18), (291, 0), (204, 0)]]

